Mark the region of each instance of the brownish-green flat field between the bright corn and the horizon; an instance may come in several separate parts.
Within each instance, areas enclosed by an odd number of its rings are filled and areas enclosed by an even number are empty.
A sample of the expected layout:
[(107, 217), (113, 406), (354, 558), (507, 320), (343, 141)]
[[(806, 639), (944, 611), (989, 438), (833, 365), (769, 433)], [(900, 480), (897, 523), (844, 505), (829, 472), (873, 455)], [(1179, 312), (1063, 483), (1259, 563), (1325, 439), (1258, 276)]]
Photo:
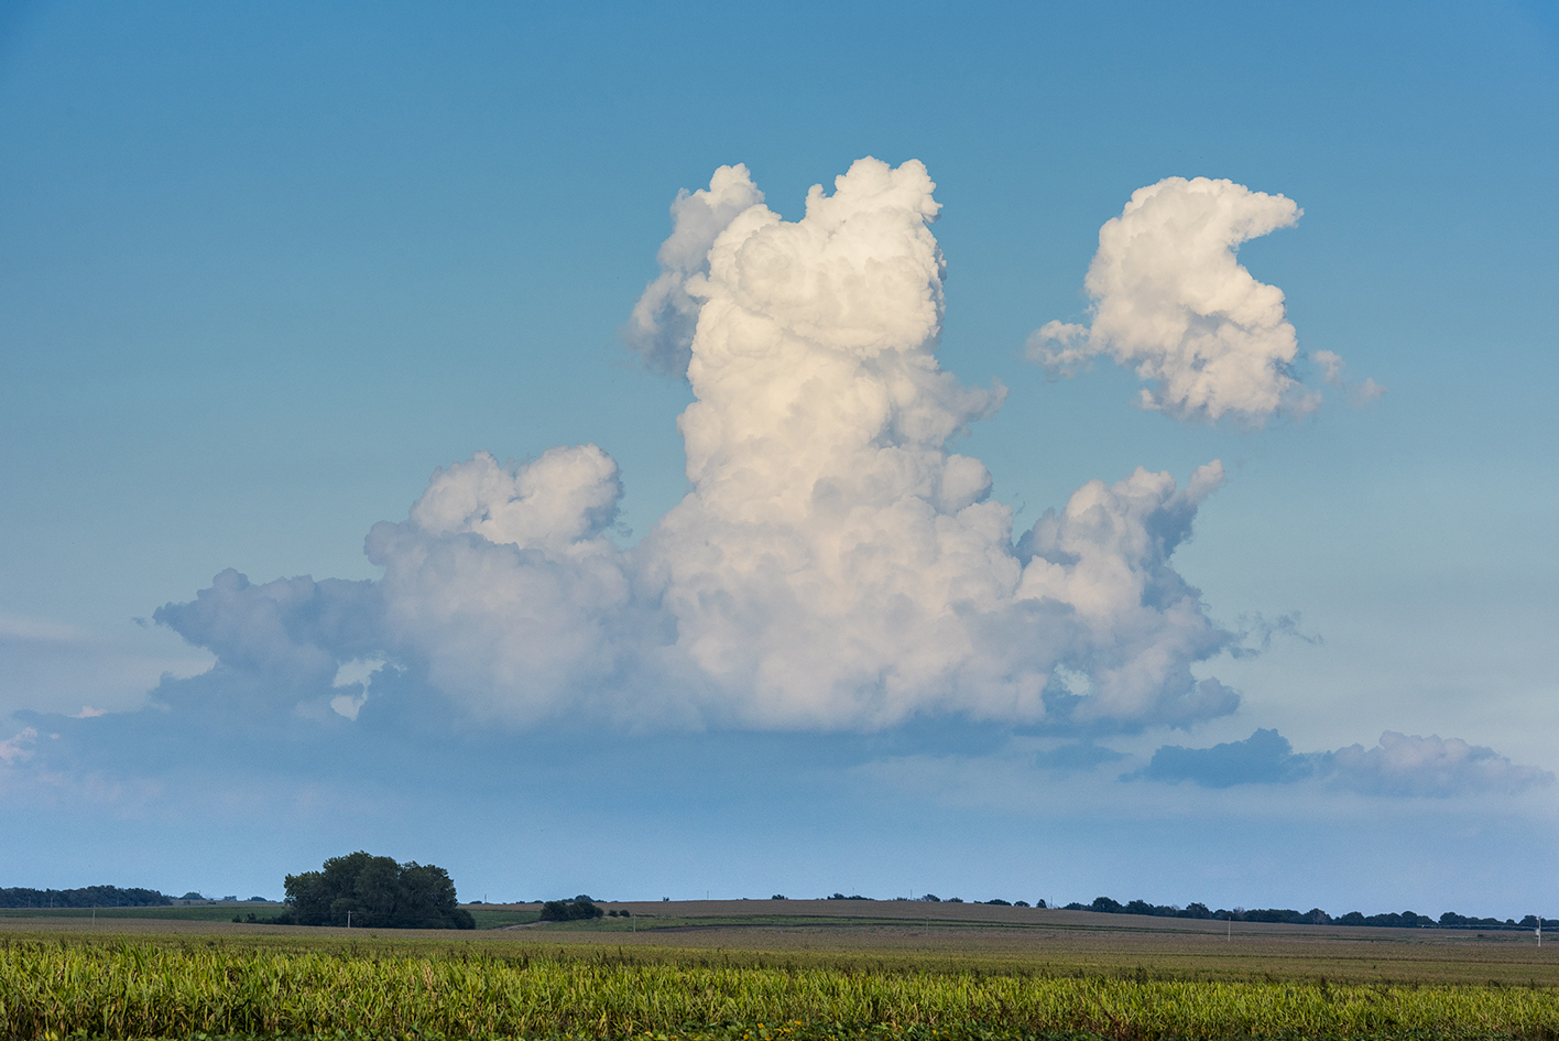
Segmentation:
[[(103, 940), (207, 936), (221, 943), (354, 941), (365, 949), (455, 950), (507, 957), (514, 949), (633, 954), (650, 960), (719, 952), (784, 957), (795, 965), (1027, 974), (1143, 975), (1166, 980), (1559, 986), (1559, 946), (1529, 933), (1442, 929), (1280, 926), (1096, 915), (982, 904), (868, 901), (689, 901), (602, 904), (631, 918), (538, 922), (535, 904), (474, 905), (479, 930), (380, 930), (234, 924), (170, 910), (123, 908), (95, 927), (55, 911), (0, 918), (0, 936), (45, 933)], [(156, 916), (131, 918), (131, 913)], [(159, 941), (161, 943), (161, 941)], [(432, 944), (427, 947), (426, 944)], [(452, 944), (452, 946), (451, 946)]]

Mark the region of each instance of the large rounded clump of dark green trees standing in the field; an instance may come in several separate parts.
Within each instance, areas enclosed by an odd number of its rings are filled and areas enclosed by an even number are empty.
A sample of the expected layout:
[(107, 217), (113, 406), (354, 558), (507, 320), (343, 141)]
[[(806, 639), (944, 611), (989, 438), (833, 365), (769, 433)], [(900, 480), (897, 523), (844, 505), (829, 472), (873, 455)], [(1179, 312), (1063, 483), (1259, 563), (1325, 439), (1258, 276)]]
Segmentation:
[(290, 926), (363, 929), (475, 929), (471, 911), (455, 905), (455, 883), (435, 865), (362, 851), (331, 857), (321, 871), (287, 876), (287, 910), (274, 921)]

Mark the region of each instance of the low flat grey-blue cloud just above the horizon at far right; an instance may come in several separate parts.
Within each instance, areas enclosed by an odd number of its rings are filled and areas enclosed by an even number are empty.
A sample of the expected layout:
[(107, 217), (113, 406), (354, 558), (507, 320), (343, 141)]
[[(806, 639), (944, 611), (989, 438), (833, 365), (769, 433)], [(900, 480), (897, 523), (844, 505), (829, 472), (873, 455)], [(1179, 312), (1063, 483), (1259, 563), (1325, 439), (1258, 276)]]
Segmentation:
[(1322, 779), (1330, 788), (1377, 796), (1515, 794), (1554, 783), (1554, 776), (1522, 766), (1492, 748), (1439, 735), (1386, 730), (1375, 748), (1350, 744), (1335, 752), (1294, 752), (1277, 730), (1211, 748), (1165, 744), (1147, 766), (1122, 780), (1190, 780), (1204, 788), (1292, 783)]

